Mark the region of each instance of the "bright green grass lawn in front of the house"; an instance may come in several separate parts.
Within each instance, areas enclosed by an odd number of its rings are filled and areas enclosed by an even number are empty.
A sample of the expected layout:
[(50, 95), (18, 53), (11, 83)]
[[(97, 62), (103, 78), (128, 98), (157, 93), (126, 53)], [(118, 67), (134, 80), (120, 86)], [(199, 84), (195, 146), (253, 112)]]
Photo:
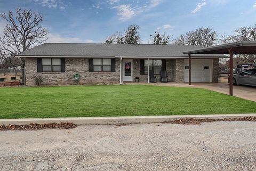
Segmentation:
[(0, 118), (256, 113), (256, 103), (201, 88), (146, 85), (0, 88)]

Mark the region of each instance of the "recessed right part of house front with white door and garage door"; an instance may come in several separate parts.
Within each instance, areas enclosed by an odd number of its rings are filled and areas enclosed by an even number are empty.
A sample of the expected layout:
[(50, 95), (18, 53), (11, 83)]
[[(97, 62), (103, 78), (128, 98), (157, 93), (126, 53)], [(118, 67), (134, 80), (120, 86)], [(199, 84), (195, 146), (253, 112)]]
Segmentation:
[[(168, 82), (188, 82), (188, 59), (186, 58), (121, 58), (118, 64), (120, 68), (120, 84), (136, 82), (150, 82), (155, 77), (161, 82), (161, 71), (166, 72)], [(215, 82), (218, 83), (218, 58), (193, 59), (192, 82)], [(150, 71), (154, 76), (150, 76)], [(151, 73), (152, 74), (152, 73)]]

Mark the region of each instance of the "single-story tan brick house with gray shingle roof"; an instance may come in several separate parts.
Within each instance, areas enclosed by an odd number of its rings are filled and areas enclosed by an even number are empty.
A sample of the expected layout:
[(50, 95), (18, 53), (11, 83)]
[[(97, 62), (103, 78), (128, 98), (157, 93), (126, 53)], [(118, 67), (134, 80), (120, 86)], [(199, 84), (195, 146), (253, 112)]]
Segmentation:
[[(43, 85), (119, 84), (148, 82), (148, 62), (157, 81), (166, 70), (171, 82), (188, 82), (188, 55), (194, 45), (130, 45), (45, 43), (16, 56), (26, 58), (26, 83), (35, 85), (34, 75), (43, 77)], [(219, 58), (224, 55), (191, 55), (191, 82), (218, 82)], [(149, 60), (148, 60), (149, 59)]]

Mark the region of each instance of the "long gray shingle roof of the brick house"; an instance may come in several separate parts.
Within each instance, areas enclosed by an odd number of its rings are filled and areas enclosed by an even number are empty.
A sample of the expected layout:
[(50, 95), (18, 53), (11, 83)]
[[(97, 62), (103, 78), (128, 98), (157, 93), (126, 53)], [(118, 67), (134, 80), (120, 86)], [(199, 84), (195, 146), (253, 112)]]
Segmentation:
[[(154, 56), (188, 57), (184, 51), (202, 48), (195, 45), (130, 45), (130, 44), (86, 44), (45, 43), (17, 56)], [(198, 57), (221, 57), (223, 55), (194, 55)]]

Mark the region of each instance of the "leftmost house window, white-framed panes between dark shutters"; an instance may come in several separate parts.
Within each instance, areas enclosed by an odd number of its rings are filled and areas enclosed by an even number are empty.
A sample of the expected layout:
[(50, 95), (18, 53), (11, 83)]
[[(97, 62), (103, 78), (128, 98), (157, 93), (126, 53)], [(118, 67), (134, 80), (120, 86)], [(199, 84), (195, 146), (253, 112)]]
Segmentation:
[(43, 72), (60, 72), (59, 58), (43, 58), (42, 59)]

